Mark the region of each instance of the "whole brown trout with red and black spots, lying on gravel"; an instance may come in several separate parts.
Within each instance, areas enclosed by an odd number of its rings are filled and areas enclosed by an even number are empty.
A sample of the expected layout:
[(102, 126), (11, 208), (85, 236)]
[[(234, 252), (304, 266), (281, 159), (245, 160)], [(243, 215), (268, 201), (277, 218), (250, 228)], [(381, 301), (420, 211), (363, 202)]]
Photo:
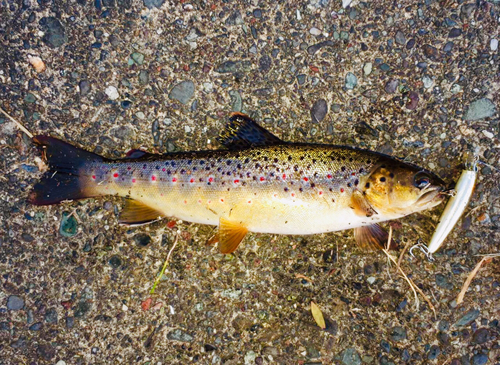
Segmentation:
[(396, 157), (350, 146), (291, 143), (233, 113), (224, 148), (109, 159), (50, 136), (35, 136), (48, 165), (29, 193), (34, 205), (115, 195), (119, 223), (163, 217), (218, 226), (221, 253), (248, 232), (311, 235), (354, 229), (360, 248), (387, 244), (380, 222), (440, 204), (444, 182)]

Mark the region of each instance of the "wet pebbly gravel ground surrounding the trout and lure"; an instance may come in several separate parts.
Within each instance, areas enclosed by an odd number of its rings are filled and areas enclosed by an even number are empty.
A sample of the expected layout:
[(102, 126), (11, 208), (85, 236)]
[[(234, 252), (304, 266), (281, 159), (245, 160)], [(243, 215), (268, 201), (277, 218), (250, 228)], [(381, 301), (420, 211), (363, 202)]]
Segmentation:
[[(119, 226), (119, 198), (30, 206), (39, 153), (1, 116), (0, 364), (499, 364), (500, 258), (456, 303), (500, 251), (499, 17), (497, 0), (0, 0), (0, 105), (33, 133), (112, 158), (215, 149), (238, 111), (449, 183), (469, 147), (494, 166), (435, 261), (403, 258), (434, 316), (348, 231), (224, 256), (209, 226)], [(393, 222), (395, 254), (442, 209)]]

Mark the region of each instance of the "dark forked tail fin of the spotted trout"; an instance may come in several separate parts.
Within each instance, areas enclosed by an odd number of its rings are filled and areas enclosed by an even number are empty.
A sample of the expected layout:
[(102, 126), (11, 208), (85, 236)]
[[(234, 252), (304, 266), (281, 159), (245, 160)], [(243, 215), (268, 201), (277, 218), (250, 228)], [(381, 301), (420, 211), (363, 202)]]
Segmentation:
[(28, 202), (50, 205), (94, 196), (86, 191), (80, 175), (86, 165), (104, 161), (103, 157), (49, 136), (35, 136), (33, 142), (42, 151), (49, 169), (33, 187)]

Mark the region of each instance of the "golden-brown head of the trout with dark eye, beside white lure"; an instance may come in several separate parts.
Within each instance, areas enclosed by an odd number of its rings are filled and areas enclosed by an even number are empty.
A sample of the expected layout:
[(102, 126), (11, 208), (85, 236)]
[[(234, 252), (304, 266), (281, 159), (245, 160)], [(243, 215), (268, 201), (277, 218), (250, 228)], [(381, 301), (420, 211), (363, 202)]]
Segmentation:
[(445, 186), (444, 181), (430, 171), (388, 161), (372, 171), (363, 193), (378, 212), (405, 216), (439, 205), (445, 198)]

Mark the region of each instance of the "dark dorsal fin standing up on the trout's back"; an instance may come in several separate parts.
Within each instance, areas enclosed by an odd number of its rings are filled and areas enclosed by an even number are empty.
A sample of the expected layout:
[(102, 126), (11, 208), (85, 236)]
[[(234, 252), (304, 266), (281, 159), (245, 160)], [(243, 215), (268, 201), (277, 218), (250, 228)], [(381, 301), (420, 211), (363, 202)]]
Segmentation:
[(217, 140), (230, 150), (285, 143), (242, 113), (231, 114), (228, 125)]

